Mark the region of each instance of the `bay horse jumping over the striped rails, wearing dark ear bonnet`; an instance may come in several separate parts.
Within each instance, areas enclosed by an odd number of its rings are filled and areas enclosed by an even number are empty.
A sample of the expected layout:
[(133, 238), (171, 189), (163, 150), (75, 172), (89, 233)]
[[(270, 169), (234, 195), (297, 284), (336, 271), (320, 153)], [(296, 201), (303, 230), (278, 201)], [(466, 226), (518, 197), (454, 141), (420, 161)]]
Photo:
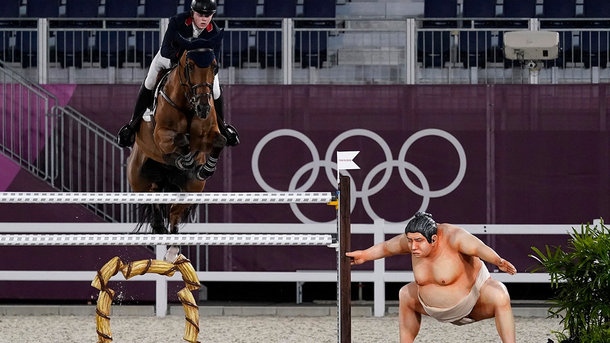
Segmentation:
[[(134, 192), (202, 192), (213, 175), (226, 145), (212, 96), (218, 64), (211, 47), (222, 34), (209, 40), (181, 38), (185, 51), (178, 65), (166, 71), (164, 79), (160, 73), (154, 116), (141, 121), (127, 160), (127, 179)], [(178, 233), (195, 206), (145, 204), (135, 231), (150, 225), (152, 233)], [(164, 259), (173, 262), (178, 252), (178, 247), (170, 247)]]

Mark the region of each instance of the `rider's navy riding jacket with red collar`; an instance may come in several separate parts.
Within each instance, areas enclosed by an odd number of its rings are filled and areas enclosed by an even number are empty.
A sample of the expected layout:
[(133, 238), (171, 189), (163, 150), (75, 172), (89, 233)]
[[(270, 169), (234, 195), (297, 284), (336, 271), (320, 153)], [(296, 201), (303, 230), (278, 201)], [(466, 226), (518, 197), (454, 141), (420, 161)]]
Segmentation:
[[(218, 25), (214, 23), (214, 21), (210, 21), (201, 34), (199, 34), (199, 38), (210, 39), (220, 32)], [(184, 38), (193, 37), (193, 18), (191, 17), (191, 12), (184, 12), (178, 15), (174, 15), (170, 18), (170, 23), (167, 25), (167, 31), (165, 31), (165, 35), (163, 36), (163, 43), (161, 44), (161, 56), (170, 59), (172, 63), (178, 63), (182, 53), (184, 52), (184, 48), (180, 46), (178, 40), (176, 40), (176, 35), (182, 35)], [(218, 60), (220, 57), (220, 48), (222, 46), (222, 41), (218, 42), (218, 44), (213, 47), (214, 55)]]

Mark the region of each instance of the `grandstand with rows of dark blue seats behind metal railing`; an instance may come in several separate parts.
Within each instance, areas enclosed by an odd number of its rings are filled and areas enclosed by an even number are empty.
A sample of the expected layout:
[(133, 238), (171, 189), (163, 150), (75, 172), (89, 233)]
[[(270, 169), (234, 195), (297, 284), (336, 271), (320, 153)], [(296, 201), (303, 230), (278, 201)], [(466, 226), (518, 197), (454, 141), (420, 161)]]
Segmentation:
[[(136, 84), (185, 0), (5, 0), (0, 60), (40, 84)], [(610, 79), (596, 0), (219, 0), (223, 84), (569, 84)], [(559, 32), (536, 70), (508, 31)]]

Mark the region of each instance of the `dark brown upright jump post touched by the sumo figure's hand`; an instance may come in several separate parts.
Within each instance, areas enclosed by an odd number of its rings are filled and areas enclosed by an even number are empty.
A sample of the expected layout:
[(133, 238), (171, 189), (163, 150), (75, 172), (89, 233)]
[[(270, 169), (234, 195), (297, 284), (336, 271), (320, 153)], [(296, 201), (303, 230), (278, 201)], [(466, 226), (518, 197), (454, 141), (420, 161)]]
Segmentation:
[(350, 220), (350, 177), (339, 178), (339, 343), (351, 343), (351, 265), (350, 258), (345, 253), (350, 251), (351, 220)]

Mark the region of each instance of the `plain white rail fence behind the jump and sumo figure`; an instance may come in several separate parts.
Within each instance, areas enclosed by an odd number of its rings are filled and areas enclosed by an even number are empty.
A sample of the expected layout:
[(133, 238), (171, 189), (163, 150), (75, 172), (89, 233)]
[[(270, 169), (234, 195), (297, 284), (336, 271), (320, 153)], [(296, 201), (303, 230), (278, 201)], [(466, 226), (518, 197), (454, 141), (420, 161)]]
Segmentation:
[[(598, 223), (598, 222), (594, 222)], [(571, 232), (578, 225), (459, 225), (472, 234), (536, 234), (536, 235), (564, 235)], [(130, 223), (0, 223), (0, 234), (25, 233), (129, 233), (134, 228)], [(190, 223), (181, 229), (182, 233), (207, 234), (334, 234), (337, 228), (329, 224), (271, 224), (271, 223)], [(386, 223), (378, 220), (374, 224), (352, 224), (351, 234), (373, 234), (373, 243), (382, 242), (386, 234), (400, 234), (404, 232), (404, 225)], [(165, 255), (165, 246), (157, 246), (157, 259)], [(505, 256), (510, 259), (510, 256)], [(384, 259), (370, 262), (372, 271), (353, 271), (351, 281), (354, 283), (373, 283), (374, 314), (384, 316), (385, 283), (409, 283), (414, 281), (410, 271), (387, 271)], [(101, 265), (99, 266), (101, 267)], [(91, 281), (96, 275), (91, 271), (36, 271), (36, 270), (4, 270), (0, 271), (0, 281)], [(278, 281), (278, 282), (337, 282), (336, 270), (295, 271), (295, 272), (205, 272), (198, 271), (199, 280), (202, 281)], [(519, 272), (514, 276), (506, 273), (493, 273), (492, 278), (503, 283), (548, 283), (546, 273)], [(134, 279), (132, 279), (134, 280)], [(162, 275), (142, 275), (135, 281), (154, 281), (156, 283), (156, 312), (162, 316), (167, 312), (167, 282), (181, 281), (180, 276), (167, 278)]]

